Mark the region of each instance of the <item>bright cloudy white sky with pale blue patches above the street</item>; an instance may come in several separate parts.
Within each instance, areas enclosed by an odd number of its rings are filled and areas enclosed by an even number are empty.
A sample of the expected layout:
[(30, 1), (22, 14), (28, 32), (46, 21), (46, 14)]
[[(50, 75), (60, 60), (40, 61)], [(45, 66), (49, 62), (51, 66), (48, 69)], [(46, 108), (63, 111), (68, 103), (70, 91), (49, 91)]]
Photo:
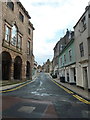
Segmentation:
[(31, 16), (33, 53), (38, 64), (53, 59), (55, 44), (73, 30), (89, 0), (20, 0)]

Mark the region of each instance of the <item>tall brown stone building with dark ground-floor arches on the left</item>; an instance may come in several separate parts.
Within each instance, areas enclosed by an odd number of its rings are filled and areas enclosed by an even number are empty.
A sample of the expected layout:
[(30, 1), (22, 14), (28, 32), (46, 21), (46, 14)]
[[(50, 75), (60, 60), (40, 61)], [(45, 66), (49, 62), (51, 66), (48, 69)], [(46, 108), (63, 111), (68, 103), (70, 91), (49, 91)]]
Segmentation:
[(2, 2), (2, 79), (32, 79), (33, 24), (20, 1)]

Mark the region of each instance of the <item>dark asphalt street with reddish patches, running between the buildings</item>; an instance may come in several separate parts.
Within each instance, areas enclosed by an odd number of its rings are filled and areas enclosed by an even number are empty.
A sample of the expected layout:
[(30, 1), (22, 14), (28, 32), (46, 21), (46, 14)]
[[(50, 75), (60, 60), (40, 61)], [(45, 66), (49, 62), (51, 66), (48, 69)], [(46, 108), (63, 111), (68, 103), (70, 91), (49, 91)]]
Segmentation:
[(2, 94), (3, 118), (90, 118), (90, 106), (56, 85), (48, 74)]

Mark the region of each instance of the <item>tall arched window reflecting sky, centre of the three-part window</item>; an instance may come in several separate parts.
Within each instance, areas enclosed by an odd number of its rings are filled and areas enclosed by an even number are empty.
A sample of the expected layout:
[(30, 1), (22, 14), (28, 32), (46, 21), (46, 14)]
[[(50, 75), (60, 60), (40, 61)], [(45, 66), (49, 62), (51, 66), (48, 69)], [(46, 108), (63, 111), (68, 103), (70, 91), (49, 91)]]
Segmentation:
[(16, 46), (16, 44), (17, 44), (17, 27), (15, 25), (12, 27), (11, 44), (14, 46)]

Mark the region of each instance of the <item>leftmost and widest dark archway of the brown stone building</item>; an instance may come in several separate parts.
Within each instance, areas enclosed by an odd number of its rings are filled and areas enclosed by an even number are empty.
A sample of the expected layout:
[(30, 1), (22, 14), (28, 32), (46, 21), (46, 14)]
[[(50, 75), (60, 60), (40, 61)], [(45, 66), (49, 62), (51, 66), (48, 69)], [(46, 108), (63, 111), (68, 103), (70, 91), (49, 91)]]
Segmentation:
[(9, 52), (2, 52), (2, 80), (9, 80), (11, 73), (12, 58)]

